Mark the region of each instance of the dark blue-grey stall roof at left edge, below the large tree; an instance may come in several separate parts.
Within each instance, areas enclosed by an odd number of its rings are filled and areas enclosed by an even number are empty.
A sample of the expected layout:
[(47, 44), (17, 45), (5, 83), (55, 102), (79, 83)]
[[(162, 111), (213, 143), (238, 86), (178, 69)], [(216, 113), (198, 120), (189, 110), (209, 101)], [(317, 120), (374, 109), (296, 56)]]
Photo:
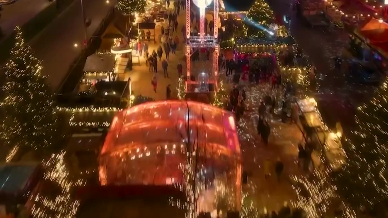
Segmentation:
[(38, 163), (0, 165), (0, 203), (24, 197), (36, 185)]

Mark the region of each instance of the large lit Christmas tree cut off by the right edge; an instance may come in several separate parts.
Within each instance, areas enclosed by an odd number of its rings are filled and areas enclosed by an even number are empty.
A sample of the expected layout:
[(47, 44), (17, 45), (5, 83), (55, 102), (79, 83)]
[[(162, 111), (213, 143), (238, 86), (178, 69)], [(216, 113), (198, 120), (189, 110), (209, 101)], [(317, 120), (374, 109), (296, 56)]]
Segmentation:
[(357, 125), (346, 134), (344, 149), (348, 159), (336, 185), (353, 208), (372, 209), (388, 199), (386, 87), (385, 82), (370, 102), (358, 107)]

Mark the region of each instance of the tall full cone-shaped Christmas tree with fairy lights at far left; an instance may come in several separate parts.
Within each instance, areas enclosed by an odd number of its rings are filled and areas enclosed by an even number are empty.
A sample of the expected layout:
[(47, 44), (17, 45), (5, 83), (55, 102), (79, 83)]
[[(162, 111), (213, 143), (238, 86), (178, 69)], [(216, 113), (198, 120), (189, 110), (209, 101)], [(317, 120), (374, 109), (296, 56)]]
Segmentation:
[(16, 44), (3, 67), (5, 98), (0, 106), (5, 116), (1, 137), (22, 149), (47, 148), (58, 135), (52, 94), (41, 75), (41, 61), (24, 42), (20, 27), (15, 31)]

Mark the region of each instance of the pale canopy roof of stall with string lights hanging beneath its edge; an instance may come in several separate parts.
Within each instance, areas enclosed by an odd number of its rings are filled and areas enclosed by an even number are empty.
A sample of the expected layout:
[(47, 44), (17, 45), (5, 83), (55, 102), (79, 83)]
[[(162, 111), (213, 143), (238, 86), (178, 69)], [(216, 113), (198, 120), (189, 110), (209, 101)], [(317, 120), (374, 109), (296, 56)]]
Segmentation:
[(87, 57), (83, 72), (113, 72), (114, 54), (92, 54)]

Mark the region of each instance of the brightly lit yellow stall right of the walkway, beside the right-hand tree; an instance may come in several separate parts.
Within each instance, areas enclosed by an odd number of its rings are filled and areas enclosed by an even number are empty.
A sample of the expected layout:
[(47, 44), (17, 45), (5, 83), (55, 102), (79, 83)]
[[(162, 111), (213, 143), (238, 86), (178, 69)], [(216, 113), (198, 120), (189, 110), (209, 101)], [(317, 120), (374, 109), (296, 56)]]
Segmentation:
[(296, 101), (300, 109), (303, 131), (313, 144), (315, 151), (323, 155), (325, 163), (332, 170), (338, 170), (346, 161), (346, 154), (342, 148), (342, 128), (333, 132), (327, 128), (317, 109), (317, 102), (313, 98), (299, 99)]

